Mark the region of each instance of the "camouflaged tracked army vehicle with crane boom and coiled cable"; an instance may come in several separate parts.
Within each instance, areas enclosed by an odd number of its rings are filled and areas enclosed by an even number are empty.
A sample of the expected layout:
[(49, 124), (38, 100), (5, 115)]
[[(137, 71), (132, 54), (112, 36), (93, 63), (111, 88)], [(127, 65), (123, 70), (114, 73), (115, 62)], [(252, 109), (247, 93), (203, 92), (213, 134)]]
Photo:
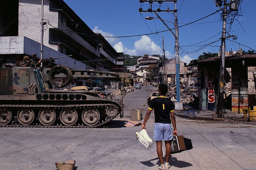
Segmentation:
[[(122, 98), (102, 98), (94, 90), (53, 90), (66, 87), (76, 77), (127, 77), (131, 74), (71, 70), (63, 65), (50, 68), (0, 68), (1, 127), (99, 127), (120, 115)], [(17, 120), (16, 120), (17, 119)]]

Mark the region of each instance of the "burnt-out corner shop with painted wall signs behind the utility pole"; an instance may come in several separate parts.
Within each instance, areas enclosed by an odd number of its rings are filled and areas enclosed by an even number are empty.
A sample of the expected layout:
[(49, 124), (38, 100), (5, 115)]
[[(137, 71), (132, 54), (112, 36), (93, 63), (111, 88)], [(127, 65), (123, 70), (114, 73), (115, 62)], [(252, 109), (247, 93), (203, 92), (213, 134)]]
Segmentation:
[[(243, 113), (244, 107), (256, 106), (255, 71), (256, 54), (242, 54), (242, 50), (226, 52), (223, 109)], [(197, 67), (199, 110), (216, 111), (219, 93), (220, 56), (197, 61), (188, 66)], [(189, 79), (195, 75), (191, 72)]]

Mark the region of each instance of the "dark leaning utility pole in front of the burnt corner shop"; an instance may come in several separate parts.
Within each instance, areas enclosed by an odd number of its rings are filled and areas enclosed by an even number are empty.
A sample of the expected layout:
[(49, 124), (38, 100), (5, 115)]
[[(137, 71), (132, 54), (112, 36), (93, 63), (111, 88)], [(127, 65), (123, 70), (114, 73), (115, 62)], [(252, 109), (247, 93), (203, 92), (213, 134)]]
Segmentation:
[(227, 21), (227, 0), (224, 0), (223, 8), (223, 24), (222, 24), (222, 37), (221, 37), (221, 50), (220, 50), (220, 66), (219, 66), (219, 93), (217, 95), (217, 109), (216, 114), (218, 118), (222, 118), (222, 105), (223, 105), (223, 84), (224, 84), (224, 70), (225, 70), (225, 38), (226, 38), (226, 21)]

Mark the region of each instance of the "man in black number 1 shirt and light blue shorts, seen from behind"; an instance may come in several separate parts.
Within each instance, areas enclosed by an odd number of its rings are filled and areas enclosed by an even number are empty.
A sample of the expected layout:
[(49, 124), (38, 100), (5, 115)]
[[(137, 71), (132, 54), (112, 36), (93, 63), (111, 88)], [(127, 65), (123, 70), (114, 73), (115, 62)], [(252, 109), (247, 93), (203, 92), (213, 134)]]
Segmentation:
[[(174, 115), (174, 104), (173, 101), (166, 97), (168, 86), (166, 84), (160, 84), (158, 90), (159, 97), (153, 98), (149, 104), (141, 129), (146, 129), (146, 122), (148, 121), (151, 111), (154, 109), (155, 123), (153, 140), (157, 143), (157, 155), (161, 163), (158, 169), (165, 170), (170, 168), (171, 141), (173, 136), (178, 135), (178, 133)], [(171, 123), (173, 124), (173, 131)], [(162, 140), (165, 140), (165, 162), (163, 160)]]

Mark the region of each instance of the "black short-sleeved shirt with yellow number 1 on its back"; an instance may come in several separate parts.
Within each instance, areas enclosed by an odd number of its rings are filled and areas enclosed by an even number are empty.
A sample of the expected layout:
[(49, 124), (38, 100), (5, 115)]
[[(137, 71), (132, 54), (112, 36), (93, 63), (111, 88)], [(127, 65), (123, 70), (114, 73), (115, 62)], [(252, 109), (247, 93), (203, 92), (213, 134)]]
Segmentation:
[(174, 104), (169, 98), (162, 96), (153, 98), (148, 109), (154, 109), (155, 123), (171, 123), (170, 112), (174, 111)]

